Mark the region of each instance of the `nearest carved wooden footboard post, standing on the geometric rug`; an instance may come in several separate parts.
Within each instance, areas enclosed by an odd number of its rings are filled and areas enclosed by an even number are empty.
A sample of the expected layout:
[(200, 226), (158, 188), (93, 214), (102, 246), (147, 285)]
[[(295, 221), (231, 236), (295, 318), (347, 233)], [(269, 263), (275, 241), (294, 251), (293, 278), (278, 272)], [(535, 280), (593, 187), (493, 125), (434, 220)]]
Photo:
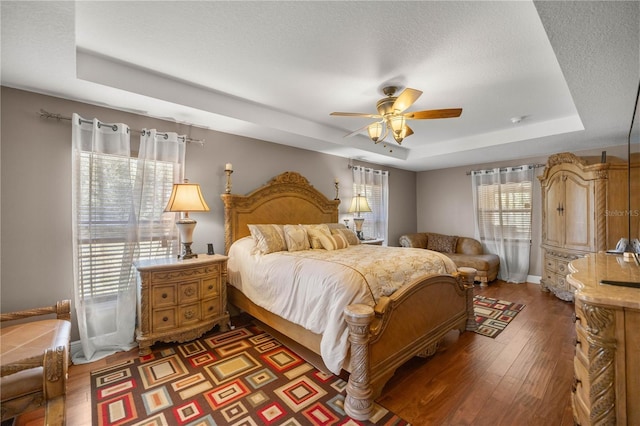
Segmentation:
[(369, 325), (373, 308), (356, 304), (344, 308), (349, 325), (350, 370), (344, 411), (356, 420), (369, 420), (373, 410), (373, 390), (369, 377)]

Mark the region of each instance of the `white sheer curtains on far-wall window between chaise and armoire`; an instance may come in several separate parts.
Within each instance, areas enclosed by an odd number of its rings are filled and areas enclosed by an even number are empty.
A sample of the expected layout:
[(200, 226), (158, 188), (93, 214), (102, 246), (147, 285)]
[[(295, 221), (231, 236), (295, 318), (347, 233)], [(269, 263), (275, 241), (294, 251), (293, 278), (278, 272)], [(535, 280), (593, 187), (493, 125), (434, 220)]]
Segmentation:
[(529, 273), (533, 166), (471, 173), (476, 238), (500, 256), (498, 278), (521, 283)]

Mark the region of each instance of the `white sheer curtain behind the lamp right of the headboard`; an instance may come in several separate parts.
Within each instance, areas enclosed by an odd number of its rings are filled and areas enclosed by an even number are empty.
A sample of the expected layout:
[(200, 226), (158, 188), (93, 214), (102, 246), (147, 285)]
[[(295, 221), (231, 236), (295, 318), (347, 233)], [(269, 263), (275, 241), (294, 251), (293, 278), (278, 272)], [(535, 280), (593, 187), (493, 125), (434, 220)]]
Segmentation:
[(361, 213), (364, 217), (362, 233), (365, 238), (384, 238), (388, 242), (389, 233), (389, 172), (361, 166), (352, 166), (353, 195), (367, 197), (371, 213)]

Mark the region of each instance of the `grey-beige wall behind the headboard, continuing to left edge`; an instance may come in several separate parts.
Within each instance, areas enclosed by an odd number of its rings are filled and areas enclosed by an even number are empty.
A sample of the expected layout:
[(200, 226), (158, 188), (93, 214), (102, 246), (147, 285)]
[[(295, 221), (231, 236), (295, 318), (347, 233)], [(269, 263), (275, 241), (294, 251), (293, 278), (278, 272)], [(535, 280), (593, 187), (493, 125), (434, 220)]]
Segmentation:
[[(211, 208), (193, 213), (198, 221), (195, 252), (213, 243), (224, 251), (222, 201), (225, 163), (233, 163), (233, 192), (247, 193), (275, 175), (293, 170), (329, 198), (335, 196), (334, 179), (343, 183), (341, 217), (348, 217), (351, 197), (348, 159), (303, 149), (233, 136), (172, 122), (67, 101), (31, 92), (2, 88), (1, 93), (1, 309), (3, 312), (46, 306), (73, 298), (71, 257), (71, 125), (69, 121), (40, 118), (42, 108), (70, 117), (127, 123), (131, 129), (176, 131), (204, 146), (189, 144), (186, 177), (200, 183)], [(136, 139), (134, 133), (132, 142)], [(374, 168), (380, 166), (354, 162)], [(416, 227), (415, 173), (389, 170), (389, 239), (397, 245), (402, 233)], [(74, 314), (74, 313), (72, 313)], [(77, 337), (74, 323), (74, 338)]]

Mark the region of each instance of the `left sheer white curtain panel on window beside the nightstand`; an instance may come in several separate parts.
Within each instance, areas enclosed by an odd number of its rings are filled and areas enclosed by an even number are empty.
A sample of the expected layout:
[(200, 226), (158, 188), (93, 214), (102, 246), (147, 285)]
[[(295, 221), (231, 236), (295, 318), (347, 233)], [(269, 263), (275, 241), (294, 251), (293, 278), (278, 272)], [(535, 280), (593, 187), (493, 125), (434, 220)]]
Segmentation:
[(135, 346), (133, 163), (129, 128), (72, 118), (75, 363)]

